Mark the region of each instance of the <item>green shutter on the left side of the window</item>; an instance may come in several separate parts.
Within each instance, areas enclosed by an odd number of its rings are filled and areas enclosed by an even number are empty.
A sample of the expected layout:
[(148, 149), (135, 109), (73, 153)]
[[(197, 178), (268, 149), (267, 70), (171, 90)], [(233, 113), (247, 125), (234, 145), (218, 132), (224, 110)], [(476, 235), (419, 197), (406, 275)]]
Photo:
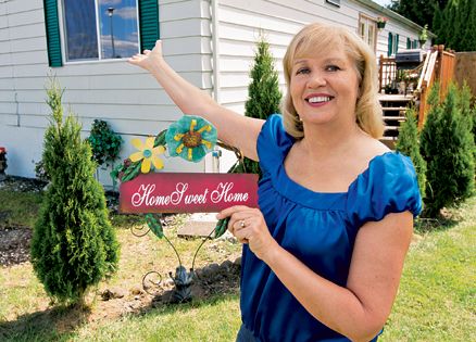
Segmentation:
[(47, 29), (48, 63), (50, 66), (62, 66), (60, 23), (58, 21), (57, 0), (43, 0), (45, 25)]

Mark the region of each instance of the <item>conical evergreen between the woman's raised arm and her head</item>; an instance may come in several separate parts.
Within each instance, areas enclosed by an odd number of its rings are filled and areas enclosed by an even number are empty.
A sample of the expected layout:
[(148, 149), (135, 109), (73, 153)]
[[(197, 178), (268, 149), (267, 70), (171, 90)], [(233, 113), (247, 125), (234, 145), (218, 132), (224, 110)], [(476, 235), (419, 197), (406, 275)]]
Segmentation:
[[(248, 86), (248, 100), (245, 104), (245, 115), (266, 119), (270, 115), (279, 112), (281, 92), (279, 77), (274, 66), (274, 58), (270, 52), (270, 43), (262, 36), (256, 42), (254, 65), (250, 72), (251, 84)], [(256, 162), (245, 159), (235, 170), (261, 175)]]

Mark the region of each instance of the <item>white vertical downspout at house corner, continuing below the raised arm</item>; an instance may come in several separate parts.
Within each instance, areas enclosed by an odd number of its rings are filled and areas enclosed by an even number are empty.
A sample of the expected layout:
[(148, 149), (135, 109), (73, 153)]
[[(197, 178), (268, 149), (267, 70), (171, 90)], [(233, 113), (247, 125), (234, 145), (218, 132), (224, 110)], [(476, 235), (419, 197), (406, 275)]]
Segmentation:
[[(212, 80), (213, 80), (213, 99), (220, 104), (222, 99), (220, 96), (220, 49), (218, 49), (218, 0), (212, 1)], [(211, 166), (206, 167), (205, 172), (211, 170), (212, 173), (220, 173), (220, 157), (222, 156), (222, 151), (215, 148), (212, 152)], [(210, 165), (210, 164), (208, 164)]]

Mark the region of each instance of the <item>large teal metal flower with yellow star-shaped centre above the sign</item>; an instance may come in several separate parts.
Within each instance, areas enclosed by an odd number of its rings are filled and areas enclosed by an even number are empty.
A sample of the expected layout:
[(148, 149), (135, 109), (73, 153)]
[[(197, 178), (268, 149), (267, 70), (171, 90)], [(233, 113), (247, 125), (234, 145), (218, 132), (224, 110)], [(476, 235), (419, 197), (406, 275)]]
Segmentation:
[(171, 156), (188, 162), (200, 162), (216, 143), (216, 128), (202, 117), (186, 115), (172, 124), (165, 140)]

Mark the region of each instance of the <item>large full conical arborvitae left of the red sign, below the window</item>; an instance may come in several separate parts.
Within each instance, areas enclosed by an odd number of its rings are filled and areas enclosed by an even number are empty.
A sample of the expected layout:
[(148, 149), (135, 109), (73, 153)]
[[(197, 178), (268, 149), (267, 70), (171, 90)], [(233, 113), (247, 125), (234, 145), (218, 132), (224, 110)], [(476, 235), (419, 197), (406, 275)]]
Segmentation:
[(52, 299), (83, 304), (88, 288), (115, 271), (118, 243), (80, 125), (72, 114), (63, 119), (54, 79), (47, 93), (52, 113), (42, 161), (51, 182), (33, 232), (32, 263)]

